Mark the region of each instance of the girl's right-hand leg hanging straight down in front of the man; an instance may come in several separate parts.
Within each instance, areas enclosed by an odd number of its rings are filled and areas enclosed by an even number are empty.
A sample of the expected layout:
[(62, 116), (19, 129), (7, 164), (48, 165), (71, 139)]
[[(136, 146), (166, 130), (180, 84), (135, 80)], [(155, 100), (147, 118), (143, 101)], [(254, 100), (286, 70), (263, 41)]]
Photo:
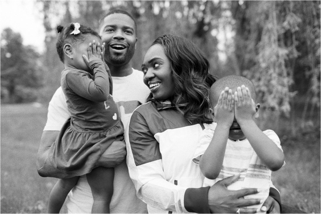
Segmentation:
[(109, 203), (114, 191), (114, 168), (96, 167), (86, 176), (94, 199), (91, 213), (110, 213)]

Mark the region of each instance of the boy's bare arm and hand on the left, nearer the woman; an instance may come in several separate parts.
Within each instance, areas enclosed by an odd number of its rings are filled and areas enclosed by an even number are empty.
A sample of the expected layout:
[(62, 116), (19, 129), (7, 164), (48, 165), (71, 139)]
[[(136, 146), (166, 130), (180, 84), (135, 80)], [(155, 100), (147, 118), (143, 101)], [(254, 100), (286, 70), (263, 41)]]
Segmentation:
[(200, 169), (205, 177), (215, 179), (221, 172), (230, 126), (234, 120), (234, 98), (228, 87), (221, 92), (214, 112), (210, 109), (213, 121), (217, 123), (212, 141), (200, 158)]

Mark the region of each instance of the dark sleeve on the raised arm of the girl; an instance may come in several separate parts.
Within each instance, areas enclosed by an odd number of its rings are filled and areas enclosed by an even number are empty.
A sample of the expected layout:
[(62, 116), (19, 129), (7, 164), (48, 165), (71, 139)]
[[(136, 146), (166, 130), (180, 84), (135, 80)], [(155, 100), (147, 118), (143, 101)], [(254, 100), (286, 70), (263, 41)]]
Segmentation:
[(90, 69), (94, 73), (91, 79), (89, 73), (81, 70), (70, 70), (66, 74), (66, 83), (68, 87), (79, 96), (94, 102), (104, 102), (109, 95), (109, 80), (105, 65), (93, 60), (89, 63)]

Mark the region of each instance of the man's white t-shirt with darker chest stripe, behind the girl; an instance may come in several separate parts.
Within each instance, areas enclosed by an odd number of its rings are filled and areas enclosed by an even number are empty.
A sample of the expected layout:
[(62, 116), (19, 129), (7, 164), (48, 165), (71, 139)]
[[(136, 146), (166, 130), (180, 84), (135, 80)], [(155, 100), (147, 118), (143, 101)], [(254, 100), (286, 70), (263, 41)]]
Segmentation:
[[(119, 106), (121, 120), (126, 127), (132, 112), (139, 104), (145, 103), (150, 90), (143, 83), (143, 72), (135, 69), (126, 77), (112, 77), (112, 79), (113, 98)], [(49, 102), (48, 119), (44, 131), (60, 131), (69, 116), (65, 95), (59, 87)], [(92, 203), (90, 186), (86, 176), (82, 175), (66, 198), (67, 211), (68, 213), (91, 213)], [(115, 167), (110, 213), (147, 213), (146, 204), (136, 196), (126, 160)]]

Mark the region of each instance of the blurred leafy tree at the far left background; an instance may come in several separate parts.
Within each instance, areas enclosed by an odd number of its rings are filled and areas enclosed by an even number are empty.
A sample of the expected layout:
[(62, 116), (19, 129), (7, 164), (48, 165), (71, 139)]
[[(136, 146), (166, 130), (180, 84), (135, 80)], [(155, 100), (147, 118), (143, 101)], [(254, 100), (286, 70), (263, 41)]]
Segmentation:
[(20, 33), (10, 28), (1, 34), (1, 98), (16, 103), (36, 100), (36, 88), (41, 86), (39, 54), (22, 44)]

